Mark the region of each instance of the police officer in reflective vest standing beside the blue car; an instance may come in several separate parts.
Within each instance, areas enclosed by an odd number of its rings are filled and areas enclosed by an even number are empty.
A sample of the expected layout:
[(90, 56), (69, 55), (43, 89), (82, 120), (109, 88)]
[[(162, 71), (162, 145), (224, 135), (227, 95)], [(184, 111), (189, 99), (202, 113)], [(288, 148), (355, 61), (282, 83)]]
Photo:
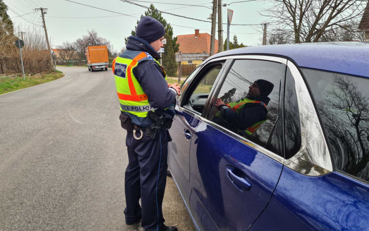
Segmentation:
[(164, 225), (161, 208), (170, 141), (168, 129), (174, 115), (171, 105), (180, 95), (180, 87), (167, 83), (165, 70), (157, 62), (164, 34), (160, 22), (142, 17), (136, 37), (128, 37), (126, 50), (113, 61), (120, 120), (127, 130), (125, 223), (133, 225), (142, 218), (145, 231), (177, 231), (176, 227)]

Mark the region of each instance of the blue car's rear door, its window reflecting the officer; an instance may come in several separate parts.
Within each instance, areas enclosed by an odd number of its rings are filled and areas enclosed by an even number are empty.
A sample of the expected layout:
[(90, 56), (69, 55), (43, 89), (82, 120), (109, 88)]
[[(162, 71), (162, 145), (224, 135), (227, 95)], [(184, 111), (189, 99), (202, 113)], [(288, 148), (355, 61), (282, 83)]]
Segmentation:
[[(247, 230), (268, 204), (283, 167), (283, 100), (279, 99), (283, 99), (287, 61), (243, 56), (229, 62), (190, 145), (190, 208), (204, 231)], [(247, 118), (219, 118), (214, 101), (252, 98), (249, 86), (259, 79), (274, 84), (270, 100), (263, 98), (268, 120), (246, 135), (239, 128)]]

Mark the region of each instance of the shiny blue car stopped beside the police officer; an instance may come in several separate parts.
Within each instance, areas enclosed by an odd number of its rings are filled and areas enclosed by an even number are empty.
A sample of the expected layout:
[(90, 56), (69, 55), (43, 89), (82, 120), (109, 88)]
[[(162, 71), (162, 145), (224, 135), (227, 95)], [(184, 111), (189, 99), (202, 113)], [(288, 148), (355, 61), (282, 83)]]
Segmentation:
[(168, 165), (198, 231), (369, 230), (369, 43), (221, 52), (181, 92)]

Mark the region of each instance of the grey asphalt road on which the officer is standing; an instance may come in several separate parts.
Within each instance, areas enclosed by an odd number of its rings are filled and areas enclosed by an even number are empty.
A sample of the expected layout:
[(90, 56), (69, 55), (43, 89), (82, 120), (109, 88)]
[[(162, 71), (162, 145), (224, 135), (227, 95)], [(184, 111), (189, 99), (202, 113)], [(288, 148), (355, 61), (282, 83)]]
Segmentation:
[[(125, 131), (111, 70), (0, 95), (0, 231), (141, 231), (126, 226)], [(194, 231), (167, 178), (166, 225)]]

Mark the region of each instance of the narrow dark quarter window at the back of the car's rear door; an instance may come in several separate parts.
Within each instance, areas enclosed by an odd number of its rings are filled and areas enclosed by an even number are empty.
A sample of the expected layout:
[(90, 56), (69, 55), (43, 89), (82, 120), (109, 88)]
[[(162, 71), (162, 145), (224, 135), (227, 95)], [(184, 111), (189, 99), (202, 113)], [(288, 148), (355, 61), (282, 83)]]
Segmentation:
[(296, 95), (295, 80), (290, 69), (286, 71), (284, 92), (284, 152), (285, 158), (294, 156), (301, 148), (301, 127), (299, 103)]

